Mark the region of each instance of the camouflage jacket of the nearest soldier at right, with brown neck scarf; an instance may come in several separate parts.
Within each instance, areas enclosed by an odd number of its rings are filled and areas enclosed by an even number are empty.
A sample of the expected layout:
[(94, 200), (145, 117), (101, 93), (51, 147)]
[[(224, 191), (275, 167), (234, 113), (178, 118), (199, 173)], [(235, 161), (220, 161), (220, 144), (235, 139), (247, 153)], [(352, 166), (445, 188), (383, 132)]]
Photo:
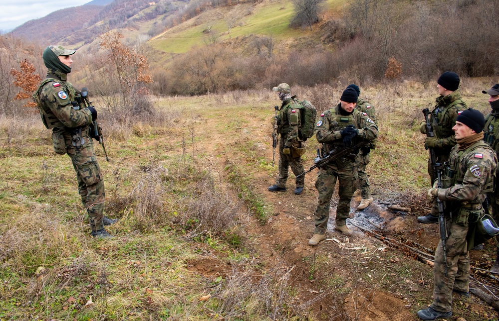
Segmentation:
[(492, 191), (498, 159), (494, 150), (483, 140), (465, 150), (459, 145), (452, 148), (445, 168), (443, 186), (438, 189), (442, 201), (482, 204), (485, 193)]

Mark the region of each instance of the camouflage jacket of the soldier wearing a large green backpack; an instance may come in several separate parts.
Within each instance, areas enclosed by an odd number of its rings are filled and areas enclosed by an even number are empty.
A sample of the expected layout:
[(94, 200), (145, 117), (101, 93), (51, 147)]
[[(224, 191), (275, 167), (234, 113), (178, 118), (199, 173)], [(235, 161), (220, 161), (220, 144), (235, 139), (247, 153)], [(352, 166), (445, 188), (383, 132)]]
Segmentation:
[(282, 102), (277, 115), (277, 131), (286, 142), (284, 145), (291, 146), (291, 143), (298, 140), (298, 128), (301, 123), (301, 109), (303, 106), (292, 98)]

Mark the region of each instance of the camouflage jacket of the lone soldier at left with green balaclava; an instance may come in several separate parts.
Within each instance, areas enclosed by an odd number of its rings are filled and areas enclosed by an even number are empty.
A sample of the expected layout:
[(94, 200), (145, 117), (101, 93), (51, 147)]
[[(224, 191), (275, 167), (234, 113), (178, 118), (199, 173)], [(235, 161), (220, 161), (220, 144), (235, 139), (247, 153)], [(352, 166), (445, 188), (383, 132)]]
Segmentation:
[(54, 131), (71, 132), (92, 123), (92, 113), (83, 102), (77, 102), (80, 92), (65, 81), (66, 77), (59, 71), (49, 70), (33, 94), (45, 127)]

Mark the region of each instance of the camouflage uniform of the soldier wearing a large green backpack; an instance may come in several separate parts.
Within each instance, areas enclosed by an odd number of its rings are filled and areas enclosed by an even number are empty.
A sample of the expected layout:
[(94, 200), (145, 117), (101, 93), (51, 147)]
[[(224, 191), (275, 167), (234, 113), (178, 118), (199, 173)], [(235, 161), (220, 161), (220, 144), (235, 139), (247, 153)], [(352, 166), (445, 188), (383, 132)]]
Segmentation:
[[(292, 157), (291, 154), (282, 153), (284, 147), (290, 147), (291, 143), (300, 140), (298, 137), (298, 128), (301, 121), (302, 106), (293, 98), (288, 98), (282, 102), (277, 115), (277, 132), (279, 139), (279, 174), (275, 180), (278, 187), (285, 188), (288, 176), (288, 167), (291, 167), (295, 176), (304, 172), (301, 156)], [(296, 187), (302, 188), (305, 182), (305, 175), (296, 178)]]

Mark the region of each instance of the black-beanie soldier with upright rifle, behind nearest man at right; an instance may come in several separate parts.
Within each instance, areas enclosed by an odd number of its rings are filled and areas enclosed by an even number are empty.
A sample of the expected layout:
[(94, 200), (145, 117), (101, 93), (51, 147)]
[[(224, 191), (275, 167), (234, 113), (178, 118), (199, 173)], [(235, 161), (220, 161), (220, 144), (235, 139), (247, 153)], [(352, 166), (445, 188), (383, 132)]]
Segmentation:
[[(458, 114), (468, 107), (461, 99), (459, 88), (459, 76), (452, 71), (446, 71), (437, 80), (437, 89), (440, 97), (436, 99), (435, 109), (430, 114), (430, 122), (435, 133), (434, 137), (426, 137), (425, 148), (432, 147), (435, 151), (437, 163), (443, 164), (449, 159), (449, 153), (454, 145), (453, 126), (456, 123)], [(421, 133), (426, 134), (426, 122), (421, 122), (419, 127)], [(430, 174), (431, 184), (435, 182), (437, 176), (434, 173), (433, 164), (428, 160), (428, 174)], [(429, 214), (419, 216), (421, 223), (438, 222), (438, 213), (432, 210)]]

